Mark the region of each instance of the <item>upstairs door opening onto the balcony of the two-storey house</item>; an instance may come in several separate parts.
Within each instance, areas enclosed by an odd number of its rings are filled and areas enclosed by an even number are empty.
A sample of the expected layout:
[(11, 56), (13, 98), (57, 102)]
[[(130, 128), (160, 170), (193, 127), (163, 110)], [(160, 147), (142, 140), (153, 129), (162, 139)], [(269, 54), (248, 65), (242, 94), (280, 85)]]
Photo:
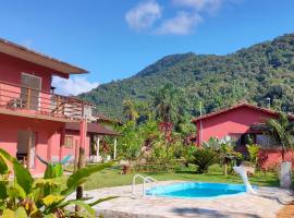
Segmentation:
[(41, 77), (22, 73), (21, 99), (30, 110), (38, 110), (40, 106)]

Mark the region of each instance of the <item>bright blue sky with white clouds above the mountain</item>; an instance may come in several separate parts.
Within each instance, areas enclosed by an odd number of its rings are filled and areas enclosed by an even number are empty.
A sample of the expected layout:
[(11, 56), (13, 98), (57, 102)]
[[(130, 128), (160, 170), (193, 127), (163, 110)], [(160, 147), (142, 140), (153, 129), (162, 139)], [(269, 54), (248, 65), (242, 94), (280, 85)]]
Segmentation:
[(294, 33), (293, 0), (2, 0), (0, 38), (87, 69), (77, 95), (184, 52), (225, 55)]

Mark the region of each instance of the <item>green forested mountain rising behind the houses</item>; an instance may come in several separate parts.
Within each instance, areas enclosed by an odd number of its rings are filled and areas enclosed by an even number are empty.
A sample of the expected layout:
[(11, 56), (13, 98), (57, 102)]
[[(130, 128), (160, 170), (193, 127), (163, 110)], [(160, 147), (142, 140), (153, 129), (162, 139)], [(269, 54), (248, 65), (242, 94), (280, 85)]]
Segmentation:
[(272, 108), (294, 112), (294, 34), (226, 56), (168, 56), (130, 78), (99, 85), (79, 97), (120, 118), (123, 99), (145, 101), (167, 83), (183, 89), (191, 116), (198, 116), (199, 101), (210, 112), (240, 100), (266, 106), (267, 98)]

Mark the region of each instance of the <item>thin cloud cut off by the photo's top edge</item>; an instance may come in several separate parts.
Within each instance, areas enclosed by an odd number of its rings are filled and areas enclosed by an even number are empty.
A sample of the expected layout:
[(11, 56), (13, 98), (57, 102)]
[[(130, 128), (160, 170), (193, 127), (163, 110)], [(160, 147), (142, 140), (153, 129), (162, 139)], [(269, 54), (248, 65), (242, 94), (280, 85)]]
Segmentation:
[(197, 12), (216, 13), (225, 0), (173, 0), (177, 7), (193, 9)]

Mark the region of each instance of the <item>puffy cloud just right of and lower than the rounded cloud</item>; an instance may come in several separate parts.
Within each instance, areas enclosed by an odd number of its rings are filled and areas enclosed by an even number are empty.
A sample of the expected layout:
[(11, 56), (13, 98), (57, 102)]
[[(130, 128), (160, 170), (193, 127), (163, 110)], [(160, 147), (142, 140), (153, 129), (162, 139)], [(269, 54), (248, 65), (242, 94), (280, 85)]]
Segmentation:
[(187, 35), (193, 33), (201, 21), (201, 16), (197, 13), (177, 12), (174, 17), (163, 21), (156, 33), (159, 35)]

